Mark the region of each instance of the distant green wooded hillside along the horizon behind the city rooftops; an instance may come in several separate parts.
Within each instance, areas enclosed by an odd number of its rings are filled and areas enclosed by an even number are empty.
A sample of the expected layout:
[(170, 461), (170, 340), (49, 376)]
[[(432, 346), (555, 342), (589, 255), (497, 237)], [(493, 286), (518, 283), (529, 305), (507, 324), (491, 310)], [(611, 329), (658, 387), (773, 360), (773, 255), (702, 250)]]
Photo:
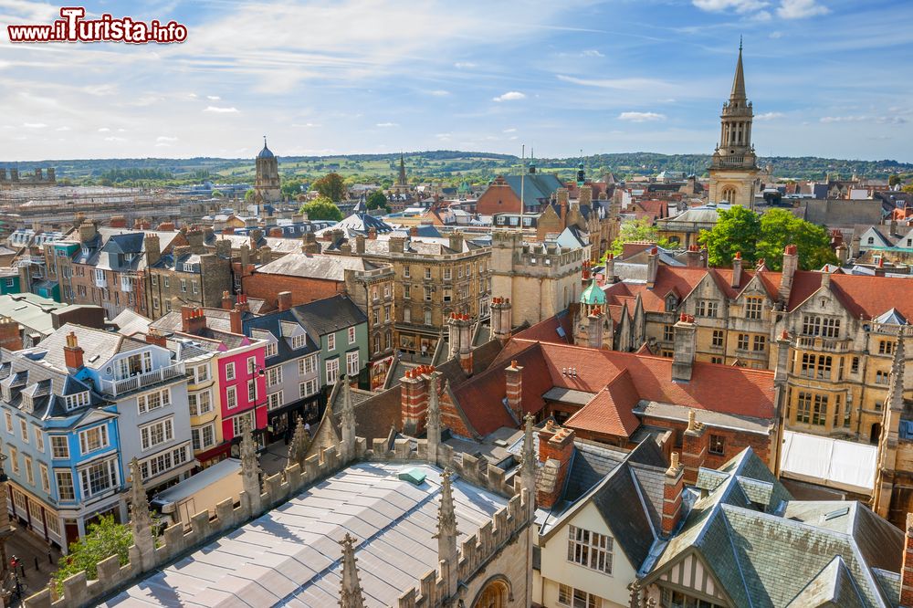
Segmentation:
[[(351, 182), (394, 179), (399, 154), (349, 154), (342, 156), (280, 156), (279, 172), (284, 179), (298, 178), (310, 182), (325, 173), (341, 173)], [(519, 172), (520, 159), (509, 154), (488, 152), (409, 152), (405, 154), (406, 171), (413, 182), (444, 180), (451, 183), (468, 181), (486, 183), (499, 173)], [(527, 160), (526, 162), (529, 162)], [(540, 171), (558, 173), (571, 178), (580, 158), (536, 159)], [(683, 171), (705, 175), (710, 162), (708, 154), (657, 154), (625, 152), (597, 154), (582, 159), (586, 172), (600, 175), (614, 173), (616, 178), (652, 175), (661, 171)], [(825, 174), (849, 178), (853, 174), (887, 178), (891, 174), (913, 174), (913, 164), (896, 161), (849, 161), (814, 156), (799, 158), (775, 156), (761, 158), (761, 165), (773, 164), (774, 174), (796, 179), (821, 179)], [(97, 159), (57, 160), (41, 162), (0, 162), (0, 167), (17, 166), (21, 173), (53, 166), (58, 180), (73, 183), (113, 183), (123, 185), (176, 185), (198, 183), (203, 179), (215, 182), (250, 182), (254, 178), (254, 160), (199, 157), (190, 159)]]

